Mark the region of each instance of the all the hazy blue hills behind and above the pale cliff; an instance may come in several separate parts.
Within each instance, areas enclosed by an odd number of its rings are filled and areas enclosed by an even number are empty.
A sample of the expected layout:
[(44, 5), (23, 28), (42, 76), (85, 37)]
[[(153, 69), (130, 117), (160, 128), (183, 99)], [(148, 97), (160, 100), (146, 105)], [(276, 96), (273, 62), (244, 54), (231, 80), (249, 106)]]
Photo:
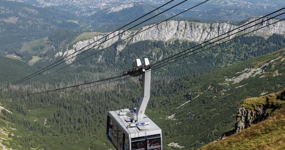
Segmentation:
[[(60, 32), (68, 32), (70, 33), (69, 36), (72, 37), (74, 35), (74, 33), (71, 33), (72, 31), (75, 31), (76, 33), (82, 33), (83, 31), (110, 32), (117, 29), (118, 26), (123, 26), (133, 19), (156, 8), (158, 5), (165, 3), (163, 0), (93, 0), (92, 2), (87, 0), (76, 0), (74, 2), (71, 2), (70, 0), (18, 1), (21, 2), (16, 2), (16, 0), (0, 1), (0, 55), (15, 54), (20, 56), (24, 61), (29, 61), (32, 56), (46, 58), (48, 55), (48, 57), (50, 57), (53, 54), (52, 50), (66, 49), (66, 47), (64, 47), (64, 42), (54, 40), (47, 41), (47, 36), (60, 37)], [(142, 25), (145, 26), (147, 24), (153, 24), (153, 22), (157, 22), (158, 20), (163, 20), (166, 17), (179, 13), (181, 10), (185, 10), (189, 5), (193, 5), (198, 2), (200, 1), (189, 0), (184, 4), (153, 18), (152, 20), (144, 22)], [(102, 4), (102, 6), (97, 4)], [(205, 23), (208, 25), (212, 24), (208, 23), (208, 20), (219, 22), (220, 24), (228, 21), (236, 23), (240, 20), (248, 19), (249, 17), (264, 15), (268, 11), (277, 9), (278, 5), (282, 4), (283, 2), (279, 0), (270, 3), (266, 0), (259, 2), (256, 0), (209, 1), (196, 9), (191, 9), (178, 17), (173, 18), (178, 21), (170, 22), (170, 24), (172, 24), (172, 27), (176, 27), (178, 22), (180, 23), (179, 27), (181, 28), (181, 25), (185, 22), (180, 20), (193, 19), (204, 19), (206, 21)], [(165, 10), (165, 8), (166, 7), (153, 12), (152, 15)], [(88, 15), (81, 14), (78, 10), (82, 11), (82, 13), (88, 13)], [(137, 26), (135, 30), (140, 28), (142, 25)], [(209, 30), (208, 27), (200, 27), (207, 31)], [(171, 28), (171, 30), (176, 29)], [(155, 31), (155, 29), (153, 31)], [(159, 31), (155, 31), (155, 33), (159, 33)], [(193, 38), (195, 38), (195, 36), (193, 36)], [(202, 39), (203, 37), (197, 38)], [(195, 40), (199, 40), (197, 38)], [(29, 42), (33, 40), (44, 40), (47, 44), (37, 44), (38, 47), (32, 45), (33, 49), (29, 49), (29, 45), (31, 45)], [(44, 48), (42, 48), (42, 46), (44, 46)], [(53, 47), (57, 49), (54, 49)], [(122, 47), (123, 45), (118, 45), (118, 48)], [(44, 52), (38, 52), (37, 50), (39, 48), (44, 49)]]

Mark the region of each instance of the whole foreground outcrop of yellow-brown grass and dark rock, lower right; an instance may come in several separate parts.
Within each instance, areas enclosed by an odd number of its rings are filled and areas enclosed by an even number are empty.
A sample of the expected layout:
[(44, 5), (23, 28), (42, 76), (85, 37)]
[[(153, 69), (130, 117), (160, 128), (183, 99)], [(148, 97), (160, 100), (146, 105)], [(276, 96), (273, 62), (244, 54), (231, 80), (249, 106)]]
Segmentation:
[[(211, 142), (200, 149), (283, 149), (285, 90), (261, 97), (247, 98), (240, 109), (247, 110), (244, 121), (250, 124), (246, 129), (223, 139)], [(237, 111), (237, 122), (240, 120), (240, 111)], [(261, 110), (261, 111), (260, 111)], [(250, 115), (256, 114), (257, 117)], [(253, 122), (250, 122), (253, 121)], [(259, 122), (260, 121), (260, 122)]]

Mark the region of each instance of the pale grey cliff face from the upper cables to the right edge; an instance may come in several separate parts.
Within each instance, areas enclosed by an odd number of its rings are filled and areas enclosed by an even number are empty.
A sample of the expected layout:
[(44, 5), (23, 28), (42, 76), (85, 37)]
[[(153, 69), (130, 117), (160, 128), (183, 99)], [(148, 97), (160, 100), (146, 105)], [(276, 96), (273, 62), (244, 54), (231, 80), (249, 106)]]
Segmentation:
[[(248, 20), (250, 22), (251, 20)], [(263, 22), (260, 25), (256, 25), (249, 30), (253, 31), (261, 27), (262, 25), (267, 25), (275, 20), (268, 20)], [(255, 23), (250, 23), (248, 26), (254, 25)], [(145, 30), (153, 25), (143, 26), (140, 31)], [(234, 32), (245, 29), (246, 26), (240, 27)], [(232, 25), (225, 22), (214, 22), (214, 23), (201, 23), (201, 22), (192, 22), (192, 21), (176, 21), (169, 20), (158, 25), (155, 25), (139, 34), (135, 35), (130, 43), (134, 43), (141, 40), (170, 40), (170, 39), (183, 39), (189, 41), (203, 41), (212, 39), (218, 35), (224, 34), (238, 26)], [(229, 37), (233, 37), (235, 33)], [(285, 33), (285, 21), (277, 22), (276, 24), (272, 24), (270, 27), (261, 28), (254, 33), (258, 34), (273, 34)], [(229, 34), (226, 34), (229, 35)]]

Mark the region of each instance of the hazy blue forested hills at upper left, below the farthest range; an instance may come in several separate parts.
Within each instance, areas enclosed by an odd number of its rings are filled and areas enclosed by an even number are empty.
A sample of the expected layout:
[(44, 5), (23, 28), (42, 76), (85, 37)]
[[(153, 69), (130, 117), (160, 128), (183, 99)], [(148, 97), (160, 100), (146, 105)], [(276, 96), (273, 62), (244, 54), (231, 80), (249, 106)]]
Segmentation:
[[(98, 28), (110, 31), (118, 24), (123, 26), (154, 9), (137, 3), (122, 10), (116, 6), (100, 10), (96, 15), (77, 16), (56, 7), (38, 7), (23, 2), (1, 0), (0, 5), (0, 54), (15, 54), (24, 61), (29, 61), (32, 56), (45, 57), (54, 50), (53, 47), (63, 48), (62, 45), (66, 45), (64, 37), (72, 38), (83, 30), (100, 30)], [(39, 48), (44, 50), (38, 52)]]

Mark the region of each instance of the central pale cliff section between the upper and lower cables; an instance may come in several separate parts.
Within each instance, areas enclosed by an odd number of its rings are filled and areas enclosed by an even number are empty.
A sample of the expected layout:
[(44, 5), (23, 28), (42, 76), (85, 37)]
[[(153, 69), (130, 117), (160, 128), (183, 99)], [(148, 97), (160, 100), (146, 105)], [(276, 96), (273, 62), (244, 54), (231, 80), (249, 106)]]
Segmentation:
[[(143, 26), (140, 31), (145, 30), (153, 25)], [(141, 40), (170, 40), (183, 39), (189, 41), (202, 41), (211, 39), (215, 36), (223, 34), (233, 28), (235, 25), (227, 23), (201, 23), (189, 21), (170, 20), (153, 26), (137, 35), (135, 35), (131, 43)]]

